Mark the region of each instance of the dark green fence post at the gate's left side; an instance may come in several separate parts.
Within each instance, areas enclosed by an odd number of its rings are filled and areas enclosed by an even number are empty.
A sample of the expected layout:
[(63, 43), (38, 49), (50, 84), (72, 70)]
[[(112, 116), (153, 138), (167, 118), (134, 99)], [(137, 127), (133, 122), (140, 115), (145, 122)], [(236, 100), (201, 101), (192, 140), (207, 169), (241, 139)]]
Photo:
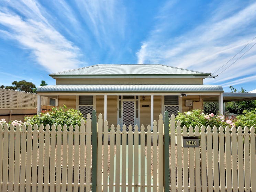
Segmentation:
[(97, 187), (97, 118), (96, 111), (92, 111), (92, 176), (91, 190), (96, 191)]

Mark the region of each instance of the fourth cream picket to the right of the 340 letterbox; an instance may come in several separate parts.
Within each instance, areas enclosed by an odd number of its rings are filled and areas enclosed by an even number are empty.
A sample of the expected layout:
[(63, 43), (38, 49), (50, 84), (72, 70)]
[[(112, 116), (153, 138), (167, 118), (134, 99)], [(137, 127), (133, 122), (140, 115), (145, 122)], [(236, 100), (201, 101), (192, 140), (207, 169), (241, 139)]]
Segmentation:
[(219, 128), (219, 170), (220, 170), (220, 191), (225, 191), (225, 154), (224, 154), (224, 128)]

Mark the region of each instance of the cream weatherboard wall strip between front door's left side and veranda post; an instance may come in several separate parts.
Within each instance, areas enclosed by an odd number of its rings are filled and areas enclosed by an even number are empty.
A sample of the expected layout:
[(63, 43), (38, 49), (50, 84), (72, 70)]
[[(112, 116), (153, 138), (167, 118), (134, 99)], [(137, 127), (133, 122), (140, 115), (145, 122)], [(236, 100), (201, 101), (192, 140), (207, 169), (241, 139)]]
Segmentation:
[(107, 120), (109, 126), (113, 124), (116, 127), (117, 125), (117, 99), (118, 96), (107, 96)]

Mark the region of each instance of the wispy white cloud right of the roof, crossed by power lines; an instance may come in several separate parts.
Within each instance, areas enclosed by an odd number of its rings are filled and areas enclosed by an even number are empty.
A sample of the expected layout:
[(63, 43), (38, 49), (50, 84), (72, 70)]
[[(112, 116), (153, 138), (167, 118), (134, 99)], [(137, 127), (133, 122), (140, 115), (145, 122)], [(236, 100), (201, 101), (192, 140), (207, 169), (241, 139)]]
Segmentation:
[[(209, 19), (199, 23), (194, 29), (169, 38), (166, 38), (165, 34), (170, 30), (170, 25), (167, 23), (167, 19), (163, 19), (162, 12), (159, 11), (158, 24), (151, 31), (149, 37), (142, 42), (142, 46), (137, 52), (138, 63), (148, 63), (151, 60), (151, 63), (164, 63), (202, 72), (217, 70), (256, 35), (254, 23), (256, 3), (246, 7), (241, 4), (231, 6), (230, 11), (228, 9), (225, 11), (228, 14), (223, 14), (223, 9), (228, 7), (228, 3), (219, 6), (212, 11)], [(238, 9), (239, 6), (242, 8)], [(168, 8), (170, 9), (170, 7)], [(252, 42), (252, 45), (255, 42), (256, 40)], [(205, 83), (225, 85), (226, 81), (231, 84), (232, 82), (238, 83), (240, 80), (240, 82), (252, 81), (253, 78), (244, 76), (251, 77), (256, 72), (254, 55), (256, 55), (256, 46), (229, 70), (223, 72), (220, 77), (215, 80), (207, 79)]]

